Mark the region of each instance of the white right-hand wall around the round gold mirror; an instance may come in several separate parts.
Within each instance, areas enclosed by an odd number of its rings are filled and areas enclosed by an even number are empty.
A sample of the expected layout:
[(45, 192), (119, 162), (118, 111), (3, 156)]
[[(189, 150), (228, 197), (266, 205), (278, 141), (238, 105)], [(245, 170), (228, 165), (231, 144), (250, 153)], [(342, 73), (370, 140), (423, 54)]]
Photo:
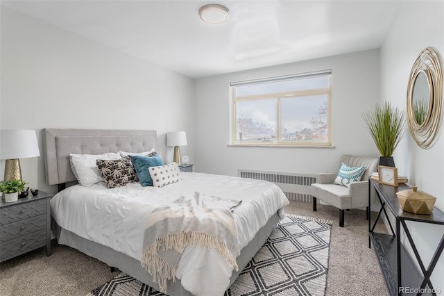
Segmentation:
[[(435, 47), (444, 60), (444, 2), (406, 1), (381, 49), (381, 101), (406, 108), (409, 74), (416, 57), (425, 47)], [(410, 135), (394, 154), (400, 174), (409, 176), (409, 183), (437, 197), (436, 207), (444, 211), (444, 136), (443, 126), (435, 144), (421, 149)], [(444, 227), (431, 224), (409, 224), (414, 240), (428, 265)], [(404, 239), (404, 245), (408, 245)], [(432, 275), (432, 283), (444, 291), (444, 256)]]

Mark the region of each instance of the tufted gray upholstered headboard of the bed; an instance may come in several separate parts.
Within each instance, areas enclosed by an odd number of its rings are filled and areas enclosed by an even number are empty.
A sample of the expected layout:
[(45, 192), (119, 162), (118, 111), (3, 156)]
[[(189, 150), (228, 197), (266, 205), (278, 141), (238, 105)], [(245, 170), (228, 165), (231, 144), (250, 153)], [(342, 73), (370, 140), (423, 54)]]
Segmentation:
[(156, 147), (156, 131), (116, 129), (43, 129), (44, 166), (48, 185), (76, 181), (69, 154), (143, 152)]

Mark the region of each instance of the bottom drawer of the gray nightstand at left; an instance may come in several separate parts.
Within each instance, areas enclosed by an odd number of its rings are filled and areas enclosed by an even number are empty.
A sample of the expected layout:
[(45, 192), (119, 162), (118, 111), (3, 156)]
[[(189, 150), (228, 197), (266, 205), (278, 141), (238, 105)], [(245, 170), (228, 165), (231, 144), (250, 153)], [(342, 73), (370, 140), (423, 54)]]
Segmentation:
[(1, 242), (0, 262), (46, 245), (46, 229)]

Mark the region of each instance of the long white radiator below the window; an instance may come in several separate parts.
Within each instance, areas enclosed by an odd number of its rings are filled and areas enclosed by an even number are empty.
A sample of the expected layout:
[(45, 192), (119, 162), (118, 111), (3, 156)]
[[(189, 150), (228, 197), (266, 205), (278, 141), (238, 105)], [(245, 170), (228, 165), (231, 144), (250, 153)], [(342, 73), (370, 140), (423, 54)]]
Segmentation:
[(289, 200), (300, 202), (311, 202), (310, 184), (316, 183), (316, 175), (313, 174), (291, 174), (239, 169), (237, 170), (237, 176), (275, 183), (282, 189)]

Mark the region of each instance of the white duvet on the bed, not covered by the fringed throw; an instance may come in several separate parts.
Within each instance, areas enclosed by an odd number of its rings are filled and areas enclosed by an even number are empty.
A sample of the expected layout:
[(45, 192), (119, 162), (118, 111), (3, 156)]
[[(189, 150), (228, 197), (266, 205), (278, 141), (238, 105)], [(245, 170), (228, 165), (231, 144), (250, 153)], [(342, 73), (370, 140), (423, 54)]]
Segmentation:
[[(103, 182), (91, 187), (71, 186), (51, 199), (51, 214), (60, 227), (140, 261), (146, 219), (151, 211), (178, 197), (191, 197), (195, 192), (242, 200), (233, 212), (239, 250), (272, 215), (278, 212), (283, 217), (284, 206), (289, 204), (273, 183), (182, 172), (182, 181), (162, 188), (130, 183), (109, 189)], [(232, 266), (218, 252), (188, 247), (180, 259), (176, 277), (194, 295), (213, 296), (223, 295), (231, 273)]]

